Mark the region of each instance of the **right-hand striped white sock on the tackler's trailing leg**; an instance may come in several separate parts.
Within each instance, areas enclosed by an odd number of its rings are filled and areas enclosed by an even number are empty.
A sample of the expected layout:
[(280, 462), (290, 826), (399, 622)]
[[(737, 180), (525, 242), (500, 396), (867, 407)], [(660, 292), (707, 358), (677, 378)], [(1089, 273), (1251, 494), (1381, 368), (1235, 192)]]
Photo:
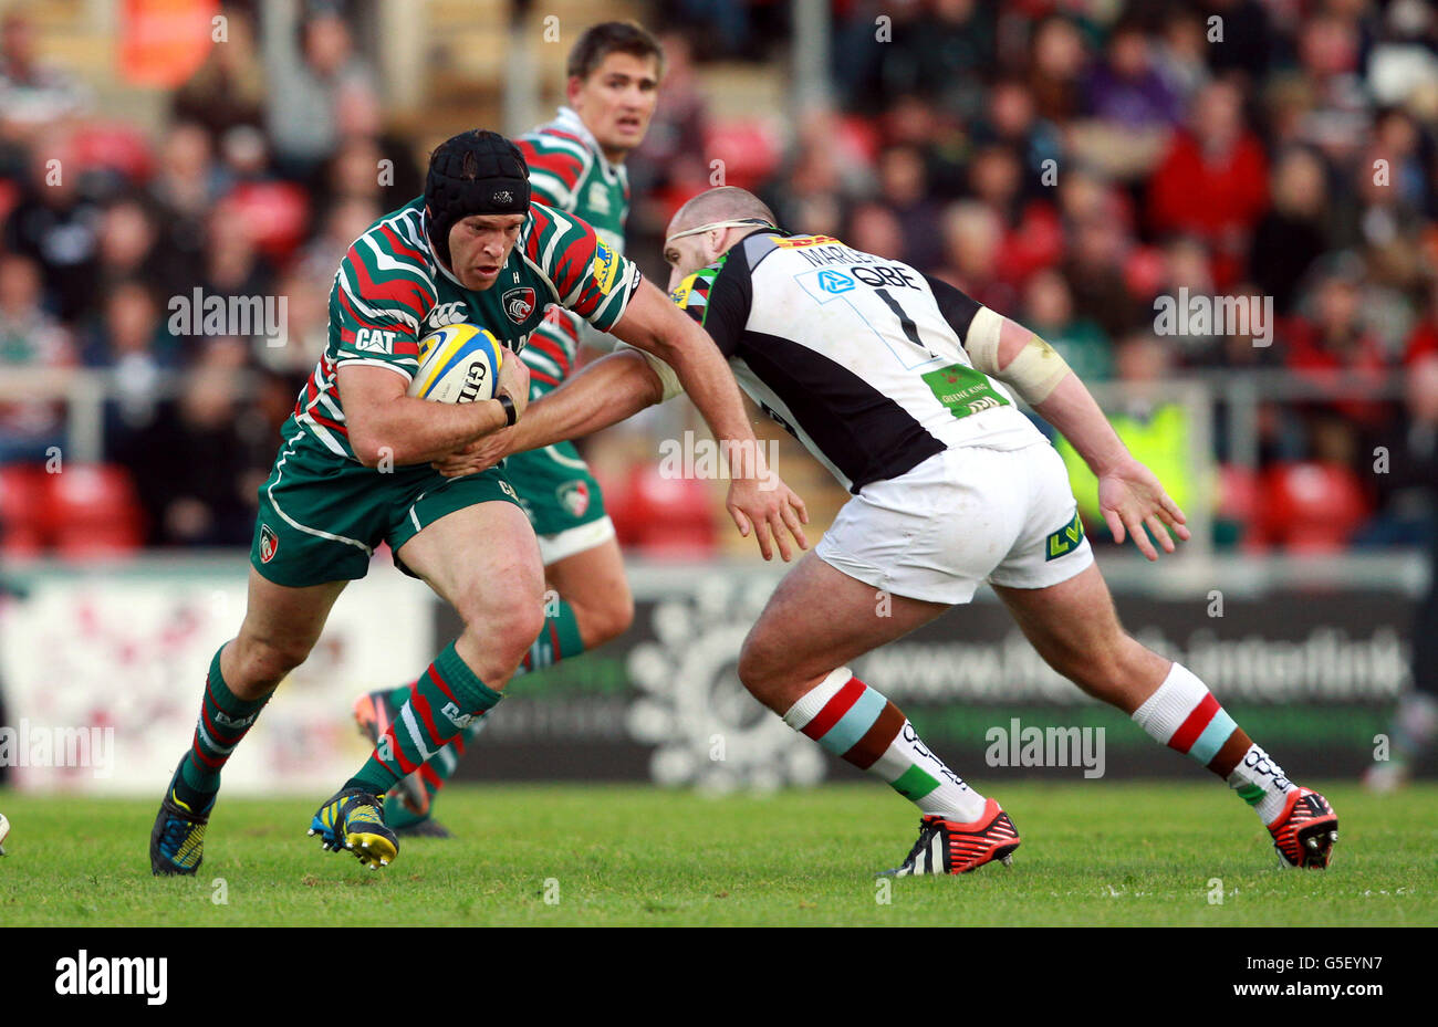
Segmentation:
[(1294, 784), (1182, 664), (1169, 668), (1163, 684), (1133, 711), (1133, 720), (1149, 737), (1228, 781), (1265, 824), (1283, 812)]

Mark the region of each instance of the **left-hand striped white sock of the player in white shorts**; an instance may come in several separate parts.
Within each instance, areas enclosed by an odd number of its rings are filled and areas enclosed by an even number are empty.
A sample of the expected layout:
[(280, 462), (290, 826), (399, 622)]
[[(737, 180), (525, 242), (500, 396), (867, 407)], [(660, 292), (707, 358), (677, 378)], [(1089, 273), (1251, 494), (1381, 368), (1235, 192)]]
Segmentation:
[(969, 823), (984, 796), (930, 753), (913, 725), (883, 694), (841, 666), (811, 688), (784, 722), (830, 753), (883, 779), (925, 813)]

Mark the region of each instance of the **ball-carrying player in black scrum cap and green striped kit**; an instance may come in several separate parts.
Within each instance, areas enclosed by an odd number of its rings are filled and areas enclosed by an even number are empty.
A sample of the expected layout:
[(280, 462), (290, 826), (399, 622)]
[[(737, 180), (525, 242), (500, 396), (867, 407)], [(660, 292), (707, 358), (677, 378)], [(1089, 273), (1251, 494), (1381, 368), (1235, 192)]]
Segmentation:
[(741, 533), (752, 530), (765, 557), (778, 544), (789, 559), (789, 533), (807, 547), (802, 503), (762, 465), (712, 340), (584, 220), (531, 203), (528, 167), (512, 142), (462, 132), (431, 155), (424, 195), (361, 234), (335, 274), (328, 345), (260, 487), (244, 621), (210, 662), (190, 748), (151, 830), (154, 873), (198, 869), (220, 771), (381, 542), (464, 629), (418, 675), (371, 757), (315, 813), (311, 833), (375, 869), (398, 855), (378, 796), (499, 701), (544, 626), (539, 549), (502, 470), (446, 477), (433, 467), (516, 424), (529, 373), (508, 359), (493, 399), (413, 399), (406, 392), (418, 340), (470, 322), (519, 353), (554, 305), (676, 366), (715, 437), (736, 454), (729, 510)]

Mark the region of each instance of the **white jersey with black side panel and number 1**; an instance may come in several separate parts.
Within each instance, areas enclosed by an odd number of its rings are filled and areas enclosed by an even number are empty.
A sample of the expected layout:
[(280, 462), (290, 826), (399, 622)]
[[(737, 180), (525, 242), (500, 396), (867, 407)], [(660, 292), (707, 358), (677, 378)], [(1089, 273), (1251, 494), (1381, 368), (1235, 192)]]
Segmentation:
[(952, 447), (1045, 441), (963, 350), (981, 306), (897, 260), (761, 228), (670, 299), (705, 326), (739, 386), (854, 494)]

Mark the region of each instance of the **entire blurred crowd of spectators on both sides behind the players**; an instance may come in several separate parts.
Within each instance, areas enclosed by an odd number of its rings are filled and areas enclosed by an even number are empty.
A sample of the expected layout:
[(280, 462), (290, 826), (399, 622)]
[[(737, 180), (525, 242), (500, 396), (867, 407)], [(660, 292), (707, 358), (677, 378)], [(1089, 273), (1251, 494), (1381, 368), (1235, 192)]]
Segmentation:
[[(247, 544), (334, 270), (420, 191), (339, 9), (263, 45), (255, 10), (224, 10), (229, 42), (170, 96), (160, 138), (88, 118), (23, 17), (0, 39), (0, 366), (114, 373), (105, 458), (138, 483), (152, 544)], [(791, 10), (651, 6), (667, 75), (628, 161), (646, 271), (667, 277), (664, 221), (718, 154), (784, 226), (946, 279), (1120, 384), (1126, 440), (1175, 475), (1196, 427), (1149, 384), (1345, 389), (1261, 402), (1257, 467), (1219, 417), (1218, 513), (1254, 544), (1301, 544), (1291, 526), (1323, 510), (1311, 539), (1418, 540), (1438, 478), (1432, 4), (838, 1), (831, 106), (716, 118), (712, 62), (781, 68)], [(167, 302), (196, 287), (285, 296), (285, 345), (174, 333)], [(1179, 289), (1271, 297), (1271, 336), (1159, 335), (1155, 297)], [(63, 437), (56, 405), (0, 402), (0, 464)]]

